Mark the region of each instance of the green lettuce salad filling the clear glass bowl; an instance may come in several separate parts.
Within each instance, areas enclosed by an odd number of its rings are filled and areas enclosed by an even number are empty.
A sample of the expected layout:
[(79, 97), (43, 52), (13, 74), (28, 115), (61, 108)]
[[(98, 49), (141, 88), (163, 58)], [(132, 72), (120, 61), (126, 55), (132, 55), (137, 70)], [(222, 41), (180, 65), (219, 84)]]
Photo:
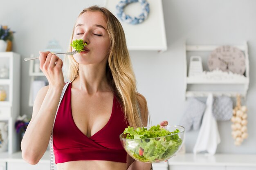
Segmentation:
[(149, 129), (128, 126), (124, 130), (124, 134), (127, 134), (126, 139), (138, 140), (134, 140), (136, 144), (133, 147), (129, 146), (131, 141), (126, 140), (124, 147), (133, 157), (142, 162), (165, 160), (175, 154), (182, 144), (178, 132), (180, 132), (178, 129), (170, 132), (161, 128), (160, 125), (152, 126)]

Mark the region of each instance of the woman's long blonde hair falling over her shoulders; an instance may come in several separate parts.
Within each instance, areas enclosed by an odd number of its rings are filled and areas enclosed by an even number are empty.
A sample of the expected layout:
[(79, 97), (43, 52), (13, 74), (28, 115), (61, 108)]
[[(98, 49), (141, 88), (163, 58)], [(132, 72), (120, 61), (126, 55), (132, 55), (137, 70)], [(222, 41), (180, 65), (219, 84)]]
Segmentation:
[[(117, 95), (117, 98), (122, 105), (129, 125), (132, 127), (140, 127), (142, 126), (142, 123), (139, 110), (137, 109), (139, 95), (136, 89), (135, 75), (132, 70), (130, 55), (126, 46), (124, 30), (119, 20), (117, 20), (115, 15), (108, 9), (92, 6), (84, 9), (80, 15), (87, 11), (100, 11), (106, 17), (106, 30), (110, 38), (106, 75), (114, 93)], [(72, 43), (73, 35), (74, 28), (70, 44)], [(72, 46), (69, 47), (69, 51), (72, 51)], [(66, 57), (65, 60), (67, 58), (69, 60), (68, 77), (71, 81), (74, 81), (79, 75), (78, 63), (74, 60), (73, 56)], [(147, 112), (147, 108), (145, 110)]]

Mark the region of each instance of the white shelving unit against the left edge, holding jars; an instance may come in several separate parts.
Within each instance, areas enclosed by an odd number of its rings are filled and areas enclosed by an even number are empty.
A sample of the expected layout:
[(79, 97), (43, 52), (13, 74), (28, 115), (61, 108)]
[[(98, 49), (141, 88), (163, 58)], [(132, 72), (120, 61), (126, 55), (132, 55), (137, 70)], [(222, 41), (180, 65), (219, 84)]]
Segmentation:
[(0, 78), (0, 86), (7, 93), (5, 101), (0, 101), (0, 121), (8, 123), (8, 153), (18, 151), (18, 135), (15, 131), (15, 121), (20, 115), (20, 54), (0, 52), (0, 67), (7, 66), (8, 78)]

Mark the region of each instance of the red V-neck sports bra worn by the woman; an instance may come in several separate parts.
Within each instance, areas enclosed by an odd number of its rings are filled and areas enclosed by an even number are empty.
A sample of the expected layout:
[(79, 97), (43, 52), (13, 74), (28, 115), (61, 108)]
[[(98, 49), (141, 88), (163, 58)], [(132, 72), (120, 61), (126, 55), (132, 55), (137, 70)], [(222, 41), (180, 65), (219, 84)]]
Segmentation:
[(79, 160), (105, 160), (126, 163), (126, 151), (119, 135), (128, 126), (124, 112), (114, 95), (112, 113), (108, 123), (91, 137), (79, 130), (71, 110), (71, 86), (67, 86), (53, 129), (55, 163)]

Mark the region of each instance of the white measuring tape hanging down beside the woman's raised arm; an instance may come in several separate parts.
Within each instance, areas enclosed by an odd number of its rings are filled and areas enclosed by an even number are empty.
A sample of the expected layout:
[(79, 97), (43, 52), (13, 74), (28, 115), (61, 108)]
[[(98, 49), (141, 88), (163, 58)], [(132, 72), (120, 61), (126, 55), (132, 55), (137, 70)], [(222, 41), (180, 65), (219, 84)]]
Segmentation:
[[(60, 104), (61, 104), (61, 100), (64, 96), (64, 93), (67, 89), (67, 86), (68, 84), (70, 84), (71, 81), (67, 82), (65, 84), (65, 86), (63, 87), (63, 90), (61, 92), (61, 98), (60, 98), (60, 102), (58, 103), (58, 108), (60, 107)], [(54, 123), (55, 123), (55, 119), (56, 119), (56, 116), (57, 116), (57, 113), (58, 113), (58, 108), (57, 108), (57, 111), (56, 111), (56, 114), (55, 114), (55, 117), (54, 117), (54, 121), (53, 121), (53, 126), (52, 126), (52, 133), (53, 133), (53, 128), (54, 128)], [(51, 134), (51, 137), (50, 137), (50, 170), (54, 170), (54, 152), (53, 152), (53, 140), (52, 140), (52, 134)]]

